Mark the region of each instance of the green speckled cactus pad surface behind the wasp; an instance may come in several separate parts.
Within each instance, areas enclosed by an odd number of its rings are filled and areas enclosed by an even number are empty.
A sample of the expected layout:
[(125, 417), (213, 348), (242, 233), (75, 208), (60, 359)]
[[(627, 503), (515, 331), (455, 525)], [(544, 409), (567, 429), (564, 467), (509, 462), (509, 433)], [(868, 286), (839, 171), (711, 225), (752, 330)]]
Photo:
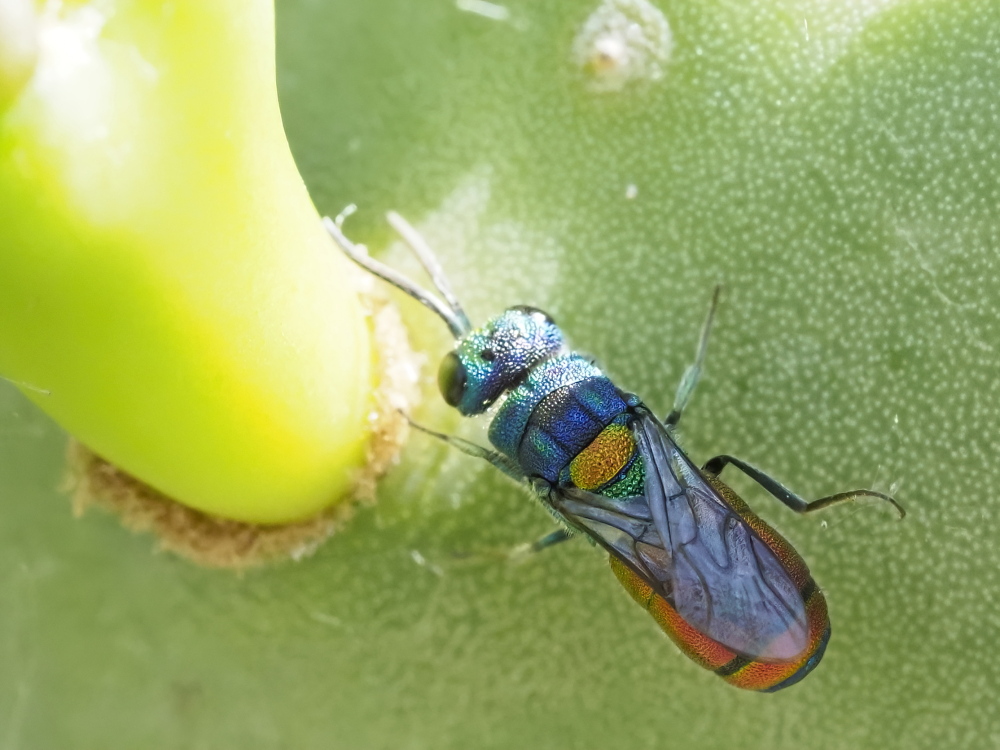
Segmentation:
[[(826, 590), (815, 674), (729, 688), (582, 542), (499, 561), (546, 515), (420, 436), (308, 560), (153, 554), (70, 516), (65, 436), (0, 385), (0, 748), (1000, 746), (1000, 3), (659, 6), (666, 77), (596, 94), (569, 52), (596, 2), (283, 0), (286, 127), (352, 235), (402, 211), (473, 317), (545, 307), (660, 410), (725, 282), (692, 455), (807, 496), (898, 483), (910, 513), (797, 518), (733, 480)], [(436, 366), (443, 327), (406, 312)]]

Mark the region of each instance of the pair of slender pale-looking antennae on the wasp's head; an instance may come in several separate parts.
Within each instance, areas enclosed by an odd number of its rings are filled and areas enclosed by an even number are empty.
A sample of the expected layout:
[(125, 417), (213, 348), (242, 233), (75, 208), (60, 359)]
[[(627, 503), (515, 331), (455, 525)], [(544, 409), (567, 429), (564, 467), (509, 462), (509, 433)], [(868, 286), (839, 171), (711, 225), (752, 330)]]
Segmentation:
[(441, 265), (437, 262), (437, 258), (434, 257), (434, 253), (417, 230), (395, 211), (390, 211), (386, 215), (393, 229), (399, 233), (403, 241), (413, 251), (413, 254), (417, 256), (420, 264), (427, 271), (427, 274), (431, 277), (431, 281), (434, 282), (434, 286), (445, 298), (446, 302), (442, 302), (438, 297), (424, 291), (401, 273), (370, 257), (364, 245), (356, 245), (347, 239), (341, 227), (344, 224), (344, 219), (355, 211), (357, 211), (357, 206), (352, 203), (341, 211), (336, 219), (331, 219), (328, 216), (323, 217), (323, 226), (326, 227), (326, 231), (330, 233), (330, 236), (333, 237), (334, 241), (340, 246), (340, 249), (344, 251), (347, 257), (365, 270), (375, 274), (383, 281), (389, 282), (397, 289), (406, 292), (413, 299), (437, 313), (448, 324), (448, 328), (456, 339), (460, 339), (469, 333), (472, 330), (469, 318), (458, 303), (458, 299), (452, 293), (444, 271), (441, 270)]

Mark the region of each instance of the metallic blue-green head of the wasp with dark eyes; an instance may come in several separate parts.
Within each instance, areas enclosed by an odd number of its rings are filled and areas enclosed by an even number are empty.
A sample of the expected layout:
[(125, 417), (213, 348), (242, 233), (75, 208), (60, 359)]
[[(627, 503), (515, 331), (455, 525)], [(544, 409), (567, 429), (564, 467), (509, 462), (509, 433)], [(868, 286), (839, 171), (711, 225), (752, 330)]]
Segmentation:
[(438, 369), (441, 395), (462, 414), (481, 414), (562, 346), (552, 318), (534, 307), (512, 307), (445, 356)]

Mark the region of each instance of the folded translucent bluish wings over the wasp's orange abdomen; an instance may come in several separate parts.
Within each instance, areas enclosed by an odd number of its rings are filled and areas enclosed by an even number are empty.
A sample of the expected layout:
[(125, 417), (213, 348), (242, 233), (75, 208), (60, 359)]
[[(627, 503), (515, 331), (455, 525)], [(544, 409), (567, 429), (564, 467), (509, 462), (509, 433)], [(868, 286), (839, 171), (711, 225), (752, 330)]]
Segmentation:
[(777, 556), (694, 468), (655, 416), (635, 437), (645, 494), (560, 488), (555, 508), (628, 563), (690, 625), (754, 659), (792, 661), (808, 646), (802, 596)]

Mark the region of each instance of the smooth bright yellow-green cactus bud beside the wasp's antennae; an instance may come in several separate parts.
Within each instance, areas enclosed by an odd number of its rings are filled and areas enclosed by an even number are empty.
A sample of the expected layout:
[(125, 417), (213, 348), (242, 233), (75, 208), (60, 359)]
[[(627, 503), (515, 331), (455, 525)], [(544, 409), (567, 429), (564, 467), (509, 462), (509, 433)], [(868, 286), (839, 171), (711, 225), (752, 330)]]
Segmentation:
[(288, 149), (269, 0), (2, 0), (0, 106), (0, 374), (199, 511), (341, 500), (370, 326)]

